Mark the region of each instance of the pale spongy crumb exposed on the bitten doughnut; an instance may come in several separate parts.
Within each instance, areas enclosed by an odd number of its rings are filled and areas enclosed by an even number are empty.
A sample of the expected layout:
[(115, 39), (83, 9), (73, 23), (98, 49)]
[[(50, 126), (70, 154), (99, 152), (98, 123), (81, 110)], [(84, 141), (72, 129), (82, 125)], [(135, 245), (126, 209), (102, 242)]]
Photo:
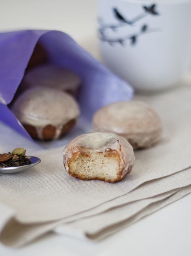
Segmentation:
[(83, 180), (99, 179), (115, 182), (121, 179), (120, 156), (115, 150), (104, 153), (78, 152), (70, 159), (68, 167), (71, 176)]

